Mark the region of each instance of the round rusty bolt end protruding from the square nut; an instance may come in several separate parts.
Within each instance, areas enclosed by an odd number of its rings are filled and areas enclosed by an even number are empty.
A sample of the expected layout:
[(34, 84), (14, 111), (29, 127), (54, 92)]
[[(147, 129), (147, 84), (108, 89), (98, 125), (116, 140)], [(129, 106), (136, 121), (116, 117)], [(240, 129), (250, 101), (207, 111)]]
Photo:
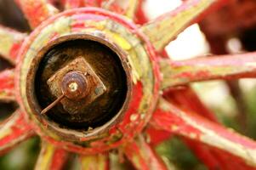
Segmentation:
[(87, 96), (90, 86), (82, 71), (70, 71), (61, 82), (62, 93), (68, 99), (82, 99)]

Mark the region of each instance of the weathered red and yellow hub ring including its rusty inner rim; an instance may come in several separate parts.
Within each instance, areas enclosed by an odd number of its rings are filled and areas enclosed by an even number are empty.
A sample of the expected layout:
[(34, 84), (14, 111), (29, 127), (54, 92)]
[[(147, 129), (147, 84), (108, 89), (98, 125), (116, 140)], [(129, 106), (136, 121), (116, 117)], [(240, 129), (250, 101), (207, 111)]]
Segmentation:
[[(92, 20), (93, 15), (97, 20)], [(54, 25), (52, 25), (52, 23), (54, 23)], [(23, 52), (20, 53), (23, 56), (24, 65), (20, 65), (22, 74), (17, 80), (19, 80), (18, 82), (20, 85), (18, 85), (18, 87), (20, 88), (22, 96), (22, 99), (19, 98), (20, 104), (26, 108), (26, 111), (30, 114), (31, 120), (37, 123), (37, 126), (39, 127), (37, 128), (37, 133), (43, 135), (44, 138), (46, 137), (44, 134), (47, 133), (47, 136), (50, 136), (50, 138), (46, 138), (48, 141), (66, 145), (68, 150), (86, 154), (95, 154), (103, 150), (117, 148), (118, 145), (122, 144), (127, 139), (133, 138), (134, 135), (139, 133), (143, 127), (145, 127), (145, 124), (148, 122), (151, 112), (154, 109), (154, 105), (156, 104), (159, 74), (156, 63), (151, 62), (155, 60), (155, 54), (152, 51), (151, 45), (139, 32), (136, 33), (136, 30), (137, 27), (135, 25), (126, 22), (126, 20), (119, 18), (115, 14), (95, 8), (83, 8), (68, 11), (62, 14), (61, 17), (58, 16), (57, 18), (52, 18), (51, 20), (44, 22), (38, 30), (33, 32), (27, 41), (27, 44), (23, 46)], [(94, 31), (97, 31), (97, 33), (95, 34)], [(122, 106), (122, 114), (118, 114), (111, 119), (110, 122), (105, 123), (105, 125), (101, 127), (93, 127), (93, 130), (92, 128), (86, 128), (81, 131), (68, 128), (67, 131), (66, 129), (70, 124), (66, 124), (65, 127), (63, 127), (63, 124), (61, 127), (56, 127), (54, 122), (48, 121), (48, 118), (51, 119), (51, 117), (46, 118), (40, 116), (40, 114), (35, 114), (40, 112), (37, 110), (31, 111), (31, 105), (35, 104), (32, 100), (28, 103), (26, 101), (27, 94), (31, 95), (29, 99), (34, 98), (33, 92), (30, 91), (32, 88), (29, 87), (33, 86), (33, 84), (30, 85), (30, 81), (34, 77), (36, 71), (33, 69), (40, 62), (40, 57), (38, 56), (43, 57), (43, 52), (41, 53), (40, 49), (46, 46), (46, 44), (49, 45), (48, 41), (54, 43), (54, 39), (66, 34), (71, 34), (71, 32), (79, 32), (80, 39), (82, 38), (82, 35), (94, 37), (94, 41), (101, 39), (101, 43), (103, 42), (106, 46), (111, 47), (112, 50), (117, 52), (122, 59), (123, 69), (128, 71), (126, 76), (127, 82), (131, 83), (128, 85), (128, 94), (125, 99), (127, 104)], [(41, 37), (43, 37), (43, 39)], [(142, 39), (140, 40), (138, 37), (141, 37)], [(123, 54), (128, 55), (125, 56), (118, 53), (115, 45), (110, 46), (110, 44), (118, 44), (118, 48), (120, 48), (121, 51), (124, 51)], [(44, 50), (47, 51), (48, 49)], [(37, 55), (37, 53), (41, 54)], [(37, 58), (34, 59), (35, 56), (37, 56)], [(95, 65), (100, 63), (103, 64), (103, 62), (99, 61), (101, 60), (95, 62)], [(126, 63), (128, 63), (128, 65)], [(31, 71), (29, 71), (28, 75), (29, 77), (26, 77), (27, 66), (31, 67)], [(107, 67), (104, 68), (107, 69)], [(102, 77), (100, 78), (105, 84)], [(109, 79), (109, 77), (107, 78)], [(23, 82), (24, 80), (26, 82)], [(105, 86), (108, 89), (107, 85)], [(120, 98), (117, 99), (120, 100)], [(108, 99), (105, 101), (110, 100)], [(47, 115), (51, 116), (53, 114)], [(117, 120), (117, 118), (119, 120)], [(47, 122), (45, 122), (45, 120)], [(48, 126), (43, 126), (45, 123), (47, 123)], [(76, 140), (77, 144), (71, 143), (70, 140)], [(82, 147), (84, 145), (87, 147)]]

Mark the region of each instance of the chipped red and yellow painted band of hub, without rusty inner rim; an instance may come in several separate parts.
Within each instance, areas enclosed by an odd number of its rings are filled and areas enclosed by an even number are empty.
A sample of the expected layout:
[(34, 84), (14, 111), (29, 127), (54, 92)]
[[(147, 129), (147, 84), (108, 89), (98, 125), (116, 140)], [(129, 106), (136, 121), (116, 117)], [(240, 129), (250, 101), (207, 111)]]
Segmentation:
[[(97, 14), (94, 14), (97, 13)], [(78, 15), (79, 14), (79, 15)], [(94, 17), (95, 16), (95, 17)], [(111, 17), (111, 20), (110, 18)], [(149, 121), (151, 117), (151, 112), (153, 111), (154, 105), (156, 103), (156, 89), (155, 83), (158, 83), (156, 75), (156, 63), (152, 63), (151, 59), (154, 59), (154, 52), (151, 50), (148, 53), (149, 44), (144, 42), (144, 40), (139, 39), (140, 34), (136, 34), (135, 27), (130, 26), (130, 23), (126, 23), (125, 20), (120, 18), (115, 18), (117, 16), (111, 15), (100, 11), (99, 9), (76, 9), (68, 11), (61, 16), (56, 17), (56, 19), (48, 20), (48, 22), (43, 23), (43, 26), (38, 28), (33, 32), (27, 44), (23, 47), (23, 65), (20, 65), (20, 79), (19, 88), (22, 96), (22, 105), (25, 106), (26, 111), (30, 114), (31, 119), (37, 122), (37, 126), (40, 129), (39, 132), (43, 137), (45, 134), (57, 143), (62, 143), (61, 140), (64, 138), (56, 136), (54, 133), (54, 128), (48, 124), (48, 126), (43, 126), (41, 122), (37, 121), (37, 116), (33, 115), (33, 111), (30, 109), (30, 105), (26, 101), (26, 75), (28, 74), (28, 65), (37, 56), (38, 51), (46, 46), (49, 41), (53, 41), (52, 37), (58, 38), (63, 37), (68, 34), (86, 33), (94, 36), (104, 37), (109, 42), (115, 44), (117, 47), (122, 48), (122, 50), (127, 54), (127, 58), (132, 70), (132, 77), (136, 77), (134, 81), (134, 89), (138, 88), (139, 93), (134, 93), (134, 102), (128, 106), (128, 111), (123, 117), (123, 122), (116, 125), (117, 130), (111, 131), (109, 137), (105, 137), (107, 134), (98, 135), (92, 139), (82, 137), (82, 142), (80, 144), (65, 143), (69, 145), (69, 150), (79, 150), (84, 153), (98, 153), (102, 150), (109, 150), (110, 148), (117, 147), (117, 145), (122, 144), (122, 140), (126, 138), (131, 138), (132, 136), (139, 133), (145, 123)], [(92, 20), (92, 19), (96, 20)], [(75, 26), (76, 29), (73, 29)], [(78, 27), (77, 27), (78, 26)], [(136, 72), (136, 73), (135, 73)], [(135, 75), (136, 74), (136, 75)], [(141, 85), (141, 88), (139, 86)], [(141, 94), (139, 98), (135, 98), (135, 95)], [(138, 105), (134, 107), (135, 105)], [(130, 111), (129, 111), (130, 110)], [(139, 114), (138, 119), (134, 122), (130, 121), (130, 116), (132, 114)], [(137, 129), (137, 130), (135, 130)], [(120, 135), (119, 133), (126, 133), (125, 135)], [(83, 134), (84, 135), (84, 134)], [(117, 137), (119, 139), (117, 139)], [(98, 139), (96, 142), (101, 145), (99, 148), (94, 148), (95, 146), (90, 145), (95, 143), (95, 138)], [(115, 138), (115, 139), (111, 139)], [(50, 139), (52, 141), (52, 139)], [(109, 142), (106, 142), (109, 141)], [(64, 142), (64, 141), (63, 141)]]

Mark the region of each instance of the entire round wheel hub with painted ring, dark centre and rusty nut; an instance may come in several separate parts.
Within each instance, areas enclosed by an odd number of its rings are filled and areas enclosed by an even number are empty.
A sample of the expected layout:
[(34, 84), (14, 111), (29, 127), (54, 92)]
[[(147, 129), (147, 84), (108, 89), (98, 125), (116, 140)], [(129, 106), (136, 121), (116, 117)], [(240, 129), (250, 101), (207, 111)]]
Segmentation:
[(152, 51), (136, 26), (116, 14), (97, 8), (59, 14), (22, 48), (20, 105), (53, 143), (83, 153), (115, 148), (145, 127), (156, 105)]

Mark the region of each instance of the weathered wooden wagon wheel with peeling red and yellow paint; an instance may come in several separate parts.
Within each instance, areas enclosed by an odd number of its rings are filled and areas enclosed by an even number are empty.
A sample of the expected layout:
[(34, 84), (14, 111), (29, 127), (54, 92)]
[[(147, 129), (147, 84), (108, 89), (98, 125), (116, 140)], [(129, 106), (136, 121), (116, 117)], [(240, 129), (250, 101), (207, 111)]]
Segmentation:
[(69, 152), (80, 155), (82, 169), (109, 169), (111, 150), (137, 169), (168, 169), (152, 145), (177, 134), (209, 169), (256, 167), (256, 143), (221, 126), (184, 87), (255, 77), (256, 54), (161, 57), (180, 31), (227, 1), (187, 0), (149, 22), (139, 0), (125, 8), (101, 0), (15, 2), (33, 31), (0, 27), (0, 54), (16, 65), (0, 73), (0, 99), (20, 105), (1, 124), (1, 153), (39, 135), (36, 169), (61, 169)]

